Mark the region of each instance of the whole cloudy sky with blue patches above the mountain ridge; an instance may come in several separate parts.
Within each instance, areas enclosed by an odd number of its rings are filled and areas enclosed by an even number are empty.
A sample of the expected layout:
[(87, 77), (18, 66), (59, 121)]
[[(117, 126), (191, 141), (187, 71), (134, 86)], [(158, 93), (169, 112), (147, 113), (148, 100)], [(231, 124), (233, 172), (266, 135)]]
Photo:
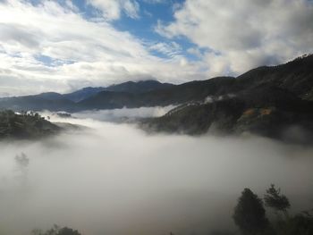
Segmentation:
[(0, 0), (0, 97), (237, 76), (312, 46), (310, 0)]

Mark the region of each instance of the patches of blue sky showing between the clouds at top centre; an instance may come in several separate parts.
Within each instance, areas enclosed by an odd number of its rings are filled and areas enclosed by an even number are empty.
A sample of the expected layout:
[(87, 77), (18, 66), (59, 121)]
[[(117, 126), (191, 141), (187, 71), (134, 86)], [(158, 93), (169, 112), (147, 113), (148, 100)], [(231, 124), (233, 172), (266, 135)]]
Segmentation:
[[(63, 0), (58, 0), (58, 2), (64, 4)], [(171, 44), (175, 42), (181, 46), (180, 53), (182, 55), (186, 56), (189, 60), (199, 60), (198, 56), (187, 52), (188, 48), (196, 46), (188, 38), (182, 36), (168, 39), (162, 37), (155, 30), (158, 21), (162, 21), (163, 23), (174, 21), (174, 9), (180, 7), (184, 3), (184, 0), (161, 0), (158, 2), (141, 0), (137, 2), (140, 4), (140, 17), (133, 19), (122, 12), (118, 20), (111, 22), (115, 29), (128, 31), (137, 38), (150, 43), (165, 42), (166, 44)], [(80, 9), (80, 12), (87, 20), (97, 18), (101, 14), (96, 7), (88, 4), (85, 0), (75, 0), (72, 3)], [(167, 55), (158, 51), (152, 51), (152, 53), (162, 58), (168, 58)]]

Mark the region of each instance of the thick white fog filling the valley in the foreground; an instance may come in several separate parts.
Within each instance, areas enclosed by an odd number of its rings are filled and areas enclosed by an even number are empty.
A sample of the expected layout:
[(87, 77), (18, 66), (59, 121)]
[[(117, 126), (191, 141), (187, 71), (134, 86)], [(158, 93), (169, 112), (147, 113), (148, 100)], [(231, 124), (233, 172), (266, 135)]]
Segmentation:
[(312, 148), (265, 138), (147, 135), (90, 116), (63, 120), (89, 130), (0, 143), (0, 234), (27, 235), (54, 223), (84, 235), (235, 230), (242, 189), (262, 197), (271, 183), (295, 212), (313, 207)]

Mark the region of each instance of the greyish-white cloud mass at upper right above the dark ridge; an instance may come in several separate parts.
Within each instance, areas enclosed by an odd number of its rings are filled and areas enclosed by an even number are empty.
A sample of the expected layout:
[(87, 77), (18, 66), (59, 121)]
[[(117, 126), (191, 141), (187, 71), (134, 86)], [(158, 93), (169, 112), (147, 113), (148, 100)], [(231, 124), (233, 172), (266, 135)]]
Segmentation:
[(313, 6), (307, 0), (187, 0), (174, 18), (159, 22), (157, 32), (208, 48), (204, 61), (215, 75), (283, 63), (312, 51)]

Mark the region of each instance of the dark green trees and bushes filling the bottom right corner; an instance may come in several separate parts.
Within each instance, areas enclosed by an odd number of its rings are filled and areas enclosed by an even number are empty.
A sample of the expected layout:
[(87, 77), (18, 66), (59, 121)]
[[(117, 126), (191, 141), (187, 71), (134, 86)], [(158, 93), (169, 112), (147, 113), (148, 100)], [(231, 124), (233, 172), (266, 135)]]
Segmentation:
[[(290, 208), (289, 199), (272, 184), (266, 190), (266, 206), (286, 214)], [(309, 212), (292, 216), (279, 216), (268, 222), (263, 203), (250, 189), (244, 189), (235, 207), (233, 219), (242, 234), (252, 235), (311, 235), (313, 234), (313, 216)]]

